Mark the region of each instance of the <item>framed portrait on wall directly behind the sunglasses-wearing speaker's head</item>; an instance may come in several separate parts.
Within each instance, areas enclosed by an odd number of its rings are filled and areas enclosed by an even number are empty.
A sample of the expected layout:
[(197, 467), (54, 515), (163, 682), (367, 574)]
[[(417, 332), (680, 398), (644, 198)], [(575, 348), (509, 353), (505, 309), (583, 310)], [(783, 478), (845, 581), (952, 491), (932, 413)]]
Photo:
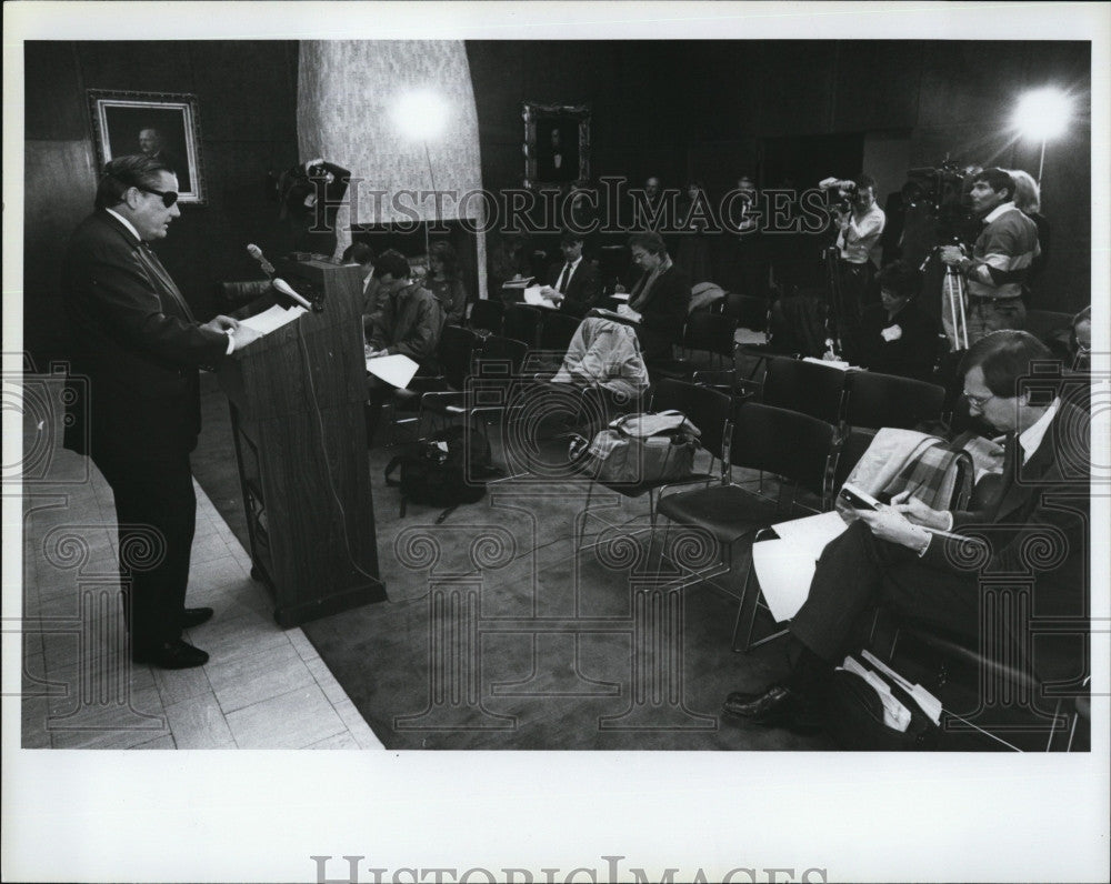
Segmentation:
[(204, 204), (197, 97), (171, 92), (89, 90), (98, 167), (113, 157), (146, 153), (178, 175), (178, 199)]

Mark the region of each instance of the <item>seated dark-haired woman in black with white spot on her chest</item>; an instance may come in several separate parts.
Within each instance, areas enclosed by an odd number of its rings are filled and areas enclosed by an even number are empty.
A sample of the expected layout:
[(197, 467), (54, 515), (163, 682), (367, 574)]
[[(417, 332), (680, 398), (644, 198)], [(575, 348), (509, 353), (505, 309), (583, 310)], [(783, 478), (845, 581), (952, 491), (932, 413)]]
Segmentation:
[(884, 374), (930, 380), (941, 329), (918, 307), (922, 274), (905, 261), (894, 261), (877, 279), (880, 303), (861, 313), (857, 352), (849, 354), (850, 361)]

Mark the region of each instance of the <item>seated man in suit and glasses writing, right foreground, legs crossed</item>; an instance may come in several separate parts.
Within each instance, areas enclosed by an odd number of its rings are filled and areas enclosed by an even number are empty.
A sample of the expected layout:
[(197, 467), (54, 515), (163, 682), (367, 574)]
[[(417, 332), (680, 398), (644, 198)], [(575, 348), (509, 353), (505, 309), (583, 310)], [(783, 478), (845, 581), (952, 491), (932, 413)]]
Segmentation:
[[(860, 511), (860, 521), (822, 551), (810, 594), (791, 621), (787, 679), (730, 694), (724, 715), (759, 724), (804, 721), (875, 604), (973, 643), (984, 629), (1001, 631), (1004, 623), (981, 623), (988, 611), (981, 610), (981, 573), (1032, 573), (1033, 616), (1084, 616), (1090, 424), (1055, 390), (1047, 391), (1045, 380), (1032, 378), (1034, 364), (1049, 359), (1045, 345), (1021, 331), (998, 331), (972, 345), (961, 366), (964, 396), (973, 414), (1007, 434), (997, 493), (971, 512), (939, 512), (905, 493), (889, 506)], [(934, 533), (965, 529), (987, 546)], [(997, 602), (991, 610), (1002, 609)]]

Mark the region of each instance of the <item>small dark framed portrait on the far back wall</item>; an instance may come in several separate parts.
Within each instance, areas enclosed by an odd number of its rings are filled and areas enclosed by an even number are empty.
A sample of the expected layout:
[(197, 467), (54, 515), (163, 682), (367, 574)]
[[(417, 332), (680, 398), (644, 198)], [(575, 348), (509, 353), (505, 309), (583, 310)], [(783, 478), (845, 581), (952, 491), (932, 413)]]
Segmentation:
[(524, 187), (584, 185), (590, 179), (590, 108), (526, 101)]

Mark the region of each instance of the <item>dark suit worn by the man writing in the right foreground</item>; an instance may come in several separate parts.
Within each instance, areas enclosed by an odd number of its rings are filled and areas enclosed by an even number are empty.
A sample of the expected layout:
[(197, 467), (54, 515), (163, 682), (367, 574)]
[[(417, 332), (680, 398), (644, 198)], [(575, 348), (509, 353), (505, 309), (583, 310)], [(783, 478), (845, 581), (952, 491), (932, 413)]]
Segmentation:
[(1014, 575), (1011, 585), (1032, 575), (1033, 615), (1084, 616), (1089, 432), (1088, 415), (1062, 403), (1025, 464), (1017, 438), (1008, 436), (993, 500), (982, 510), (953, 513), (954, 532), (988, 541), (987, 561), (938, 536), (919, 559), (875, 539), (863, 522), (851, 525), (822, 552), (792, 634), (819, 656), (838, 660), (859, 617), (879, 602), (899, 616), (975, 639), (981, 586), (1004, 574)]

